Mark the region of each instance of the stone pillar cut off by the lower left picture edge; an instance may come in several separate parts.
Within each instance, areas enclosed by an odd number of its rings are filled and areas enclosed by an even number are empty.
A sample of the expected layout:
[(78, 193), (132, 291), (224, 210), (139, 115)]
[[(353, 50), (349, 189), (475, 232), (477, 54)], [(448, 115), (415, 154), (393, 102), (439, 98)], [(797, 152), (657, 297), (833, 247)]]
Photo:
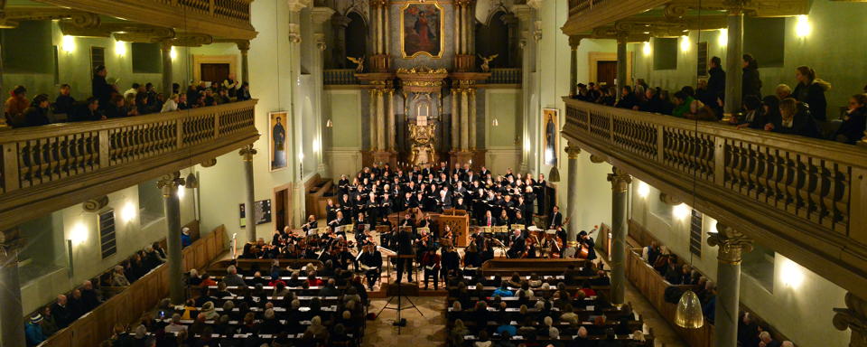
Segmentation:
[[(0, 231), (0, 237), (3, 237)], [(3, 347), (24, 346), (24, 313), (21, 306), (21, 283), (18, 279), (18, 249), (6, 247), (0, 240), (0, 342)]]

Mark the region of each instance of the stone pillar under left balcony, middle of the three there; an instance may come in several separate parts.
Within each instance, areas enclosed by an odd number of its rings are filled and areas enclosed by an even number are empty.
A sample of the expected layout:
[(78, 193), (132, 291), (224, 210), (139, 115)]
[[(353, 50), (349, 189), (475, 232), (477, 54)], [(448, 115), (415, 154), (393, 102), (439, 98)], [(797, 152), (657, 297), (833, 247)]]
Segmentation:
[[(167, 264), (169, 266), (169, 298), (173, 305), (182, 305), (183, 290), (183, 254), (181, 247), (181, 201), (178, 199), (178, 188), (183, 185), (181, 173), (175, 171), (165, 174), (156, 186), (163, 190), (163, 210), (165, 211), (165, 227), (168, 235), (165, 238)], [(183, 189), (183, 188), (181, 188)], [(247, 210), (249, 211), (249, 210)]]

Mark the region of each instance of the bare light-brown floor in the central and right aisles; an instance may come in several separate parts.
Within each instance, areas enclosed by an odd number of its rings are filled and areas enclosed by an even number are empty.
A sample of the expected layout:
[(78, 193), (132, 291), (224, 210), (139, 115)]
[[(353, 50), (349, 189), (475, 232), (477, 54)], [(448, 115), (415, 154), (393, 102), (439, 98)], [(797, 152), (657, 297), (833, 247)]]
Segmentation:
[[(395, 321), (397, 316), (396, 311), (385, 310), (376, 320), (368, 321), (368, 328), (366, 329), (362, 345), (377, 347), (444, 346), (446, 336), (445, 318), (443, 316), (445, 297), (413, 296), (410, 299), (415, 303), (419, 311), (424, 314), (424, 317), (404, 302), (405, 309), (401, 311), (401, 317), (406, 318), (407, 324), (405, 328), (400, 329), (400, 333), (398, 334), (397, 328), (392, 326), (392, 322)], [(626, 287), (626, 300), (632, 303), (633, 309), (644, 317), (645, 323), (653, 328), (653, 332), (656, 335), (655, 344), (657, 347), (687, 346), (631, 283)], [(386, 305), (387, 301), (388, 299), (373, 299), (369, 312), (378, 313)], [(388, 306), (396, 307), (396, 305), (395, 299)]]

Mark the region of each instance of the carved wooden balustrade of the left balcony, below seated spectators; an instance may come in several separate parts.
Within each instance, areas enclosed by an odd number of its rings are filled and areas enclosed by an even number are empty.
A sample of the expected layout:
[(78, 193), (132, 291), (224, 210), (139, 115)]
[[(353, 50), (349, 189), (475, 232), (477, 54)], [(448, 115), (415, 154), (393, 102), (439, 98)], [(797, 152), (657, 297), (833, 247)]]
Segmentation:
[(251, 144), (255, 107), (248, 100), (0, 131), (0, 228)]

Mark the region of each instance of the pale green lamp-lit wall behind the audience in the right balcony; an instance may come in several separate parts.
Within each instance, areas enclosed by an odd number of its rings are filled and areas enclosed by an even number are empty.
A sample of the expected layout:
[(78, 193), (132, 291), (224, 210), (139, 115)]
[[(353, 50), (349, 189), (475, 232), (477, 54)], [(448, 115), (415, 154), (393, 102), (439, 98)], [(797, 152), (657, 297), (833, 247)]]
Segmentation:
[[(819, 78), (831, 82), (833, 88), (826, 94), (828, 98), (828, 115), (837, 115), (836, 108), (845, 106), (852, 94), (862, 92), (867, 79), (867, 65), (862, 63), (847, 63), (858, 61), (867, 55), (867, 47), (860, 42), (867, 40), (867, 5), (847, 2), (832, 2), (816, 0), (810, 7), (808, 15), (812, 25), (812, 33), (804, 38), (795, 34), (797, 18), (786, 19), (784, 66), (762, 68), (759, 61), (759, 71), (762, 80), (762, 94), (769, 95), (779, 83), (786, 83), (794, 89), (795, 68), (807, 65), (816, 70)], [(690, 33), (692, 42), (696, 42), (695, 31)], [(710, 55), (718, 55), (725, 60), (725, 48), (719, 45), (719, 32), (702, 32), (702, 41), (707, 37)], [(770, 39), (770, 38), (769, 38)], [(690, 52), (683, 53), (678, 58), (677, 70), (652, 70), (650, 57), (641, 54), (641, 43), (634, 44), (636, 52), (636, 78), (648, 80), (651, 86), (662, 86), (665, 89), (680, 89), (684, 85), (695, 85), (695, 46)], [(749, 53), (749, 52), (746, 52)], [(725, 63), (723, 62), (723, 66)], [(729, 71), (726, 71), (729, 72)], [(740, 72), (740, 71), (738, 71)]]

